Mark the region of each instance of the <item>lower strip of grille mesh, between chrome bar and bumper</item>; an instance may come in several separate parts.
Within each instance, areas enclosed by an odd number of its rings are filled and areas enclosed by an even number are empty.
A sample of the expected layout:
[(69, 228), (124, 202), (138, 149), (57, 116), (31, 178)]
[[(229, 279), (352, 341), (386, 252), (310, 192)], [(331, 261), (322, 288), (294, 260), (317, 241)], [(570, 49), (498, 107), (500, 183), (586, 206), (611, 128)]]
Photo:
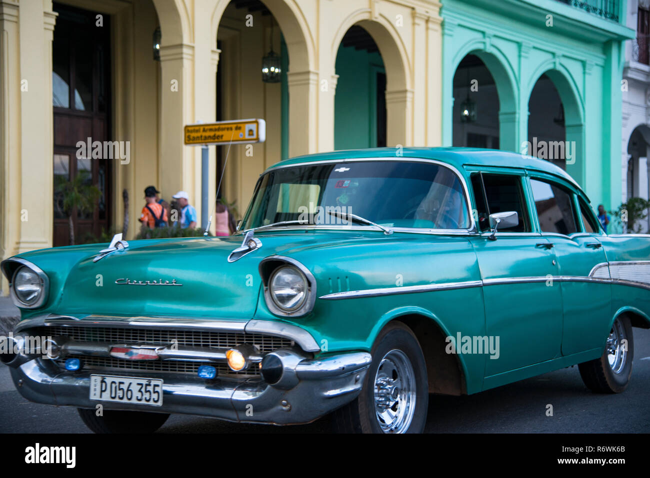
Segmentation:
[(135, 370), (152, 371), (155, 373), (192, 373), (196, 375), (201, 365), (211, 365), (216, 368), (218, 375), (252, 375), (259, 376), (259, 368), (252, 364), (248, 370), (233, 371), (227, 364), (216, 362), (192, 362), (191, 360), (126, 360), (115, 357), (85, 357), (68, 355), (54, 360), (59, 366), (64, 366), (67, 359), (80, 359), (84, 369), (94, 370)]

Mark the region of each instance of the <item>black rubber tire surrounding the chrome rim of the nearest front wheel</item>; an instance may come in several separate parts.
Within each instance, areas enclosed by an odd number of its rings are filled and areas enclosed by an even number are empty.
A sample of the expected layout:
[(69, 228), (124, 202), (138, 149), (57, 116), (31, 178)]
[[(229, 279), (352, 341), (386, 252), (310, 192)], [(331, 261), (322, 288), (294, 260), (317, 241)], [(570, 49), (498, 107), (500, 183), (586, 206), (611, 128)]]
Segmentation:
[[(391, 398), (389, 392), (385, 392), (385, 394), (387, 399), (396, 400), (393, 405), (396, 409), (399, 409), (398, 407), (403, 403), (410, 403), (411, 406), (407, 407), (407, 409), (413, 409), (409, 423), (407, 424), (407, 420), (404, 420), (404, 425), (398, 427), (397, 432), (422, 433), (426, 424), (429, 386), (424, 355), (415, 334), (404, 323), (391, 322), (378, 335), (372, 346), (371, 354), (372, 363), (363, 381), (361, 394), (354, 401), (344, 405), (341, 409), (335, 410), (332, 414), (334, 431), (337, 433), (395, 433), (395, 431), (382, 429), (382, 421), (377, 415), (375, 408), (376, 379), (381, 380), (385, 370), (390, 370), (389, 367), (393, 364), (391, 361), (393, 357), (399, 360), (406, 357), (411, 365), (414, 380), (405, 380), (404, 383), (412, 382), (415, 386), (415, 392), (411, 394), (411, 400), (414, 397), (415, 403), (413, 404), (412, 401), (409, 402), (406, 399)], [(382, 364), (382, 360), (386, 357), (388, 361)], [(378, 374), (380, 365), (382, 365), (382, 371)], [(407, 379), (408, 373), (405, 375), (407, 376), (404, 378)], [(393, 407), (389, 408), (394, 410)], [(387, 425), (385, 421), (383, 425)]]

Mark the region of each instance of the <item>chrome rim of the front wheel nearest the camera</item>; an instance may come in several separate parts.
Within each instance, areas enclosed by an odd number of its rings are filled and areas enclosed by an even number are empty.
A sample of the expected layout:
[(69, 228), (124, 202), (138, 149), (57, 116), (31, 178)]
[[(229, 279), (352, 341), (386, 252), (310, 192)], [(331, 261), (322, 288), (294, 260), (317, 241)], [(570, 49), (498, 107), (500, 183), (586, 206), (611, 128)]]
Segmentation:
[(383, 433), (404, 433), (415, 412), (415, 372), (401, 350), (383, 356), (374, 377), (374, 410)]

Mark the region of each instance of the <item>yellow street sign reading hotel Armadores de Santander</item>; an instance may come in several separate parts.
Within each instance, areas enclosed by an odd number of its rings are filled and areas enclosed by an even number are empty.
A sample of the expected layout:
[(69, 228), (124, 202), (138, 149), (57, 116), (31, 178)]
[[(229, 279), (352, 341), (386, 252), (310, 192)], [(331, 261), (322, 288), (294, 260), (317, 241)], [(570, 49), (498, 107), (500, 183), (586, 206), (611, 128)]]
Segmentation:
[(266, 121), (263, 119), (236, 119), (185, 125), (185, 144), (263, 143), (266, 139)]

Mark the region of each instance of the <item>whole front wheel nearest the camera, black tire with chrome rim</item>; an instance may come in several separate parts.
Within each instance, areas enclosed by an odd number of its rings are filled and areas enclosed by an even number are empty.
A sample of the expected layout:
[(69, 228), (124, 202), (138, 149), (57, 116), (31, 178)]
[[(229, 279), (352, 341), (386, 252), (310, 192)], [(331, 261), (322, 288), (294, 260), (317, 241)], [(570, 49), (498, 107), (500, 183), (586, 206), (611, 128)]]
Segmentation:
[(372, 347), (361, 394), (333, 413), (343, 433), (422, 433), (428, 408), (424, 355), (406, 325), (387, 325)]

